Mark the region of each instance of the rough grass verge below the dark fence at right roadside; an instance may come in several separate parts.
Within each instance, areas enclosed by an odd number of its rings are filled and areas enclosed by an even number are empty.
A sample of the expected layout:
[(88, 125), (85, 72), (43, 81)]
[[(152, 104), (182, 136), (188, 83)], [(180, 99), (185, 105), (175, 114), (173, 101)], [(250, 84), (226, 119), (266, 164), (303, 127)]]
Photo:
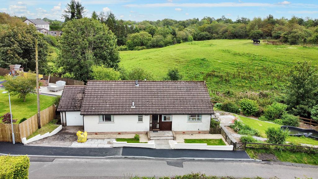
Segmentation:
[(318, 154), (265, 149), (246, 149), (245, 151), (253, 159), (258, 159), (258, 154), (267, 153), (274, 154), (280, 161), (318, 165)]

